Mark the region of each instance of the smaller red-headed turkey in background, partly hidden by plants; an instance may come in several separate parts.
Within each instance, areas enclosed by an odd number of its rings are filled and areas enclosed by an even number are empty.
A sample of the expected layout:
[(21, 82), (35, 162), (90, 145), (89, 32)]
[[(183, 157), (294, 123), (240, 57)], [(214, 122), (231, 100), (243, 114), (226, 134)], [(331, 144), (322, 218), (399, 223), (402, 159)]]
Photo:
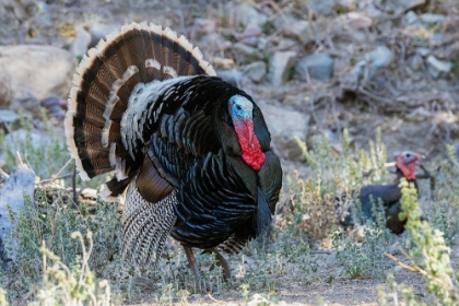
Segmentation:
[[(355, 224), (364, 224), (367, 220), (375, 221), (373, 205), (381, 201), (386, 215), (386, 227), (393, 234), (402, 234), (407, 220), (399, 219), (399, 213), (401, 212), (401, 189), (399, 184), (400, 179), (405, 177), (417, 189), (415, 175), (416, 163), (421, 163), (421, 155), (419, 153), (407, 151), (399, 154), (396, 160), (397, 178), (395, 183), (391, 185), (369, 185), (362, 187), (357, 197), (362, 212), (355, 209), (357, 204), (354, 201), (348, 211), (348, 215), (340, 221), (340, 224), (350, 227)], [(337, 200), (342, 201), (343, 199)]]

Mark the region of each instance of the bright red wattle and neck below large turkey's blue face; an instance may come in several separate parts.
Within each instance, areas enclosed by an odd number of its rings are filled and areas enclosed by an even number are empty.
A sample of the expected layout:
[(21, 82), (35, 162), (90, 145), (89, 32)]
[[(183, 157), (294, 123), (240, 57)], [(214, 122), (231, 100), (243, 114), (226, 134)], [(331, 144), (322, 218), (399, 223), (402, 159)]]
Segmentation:
[(264, 153), (254, 132), (254, 122), (250, 119), (244, 120), (242, 123), (235, 125), (235, 130), (243, 150), (243, 161), (254, 170), (259, 170), (264, 163)]

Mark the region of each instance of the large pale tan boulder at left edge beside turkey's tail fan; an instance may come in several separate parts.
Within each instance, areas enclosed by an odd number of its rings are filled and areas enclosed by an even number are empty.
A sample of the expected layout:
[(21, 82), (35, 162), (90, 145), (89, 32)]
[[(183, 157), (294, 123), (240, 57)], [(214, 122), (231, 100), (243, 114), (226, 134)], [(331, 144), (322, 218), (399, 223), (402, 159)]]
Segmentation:
[(75, 58), (57, 47), (0, 46), (0, 71), (9, 80), (7, 85), (11, 99), (27, 92), (33, 93), (37, 99), (50, 95), (66, 97), (75, 68)]

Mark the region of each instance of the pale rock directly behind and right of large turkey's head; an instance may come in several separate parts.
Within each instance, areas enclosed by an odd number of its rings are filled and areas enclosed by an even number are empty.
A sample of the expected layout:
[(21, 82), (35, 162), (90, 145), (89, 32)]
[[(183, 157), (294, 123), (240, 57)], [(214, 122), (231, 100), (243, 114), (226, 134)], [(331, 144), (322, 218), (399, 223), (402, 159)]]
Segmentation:
[(258, 104), (263, 113), (276, 154), (289, 161), (304, 161), (296, 138), (306, 140), (310, 117), (285, 106)]

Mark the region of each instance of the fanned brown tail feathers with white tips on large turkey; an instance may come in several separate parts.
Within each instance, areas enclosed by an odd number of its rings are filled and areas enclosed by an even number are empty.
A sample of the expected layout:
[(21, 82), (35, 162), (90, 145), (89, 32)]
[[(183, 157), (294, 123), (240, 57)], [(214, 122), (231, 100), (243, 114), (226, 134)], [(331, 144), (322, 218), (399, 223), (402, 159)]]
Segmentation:
[(90, 49), (73, 76), (64, 122), (81, 178), (115, 170), (106, 198), (122, 192), (143, 158), (141, 150), (129, 154), (122, 143), (121, 120), (131, 93), (154, 80), (195, 74), (215, 71), (184, 36), (153, 24), (125, 25)]

